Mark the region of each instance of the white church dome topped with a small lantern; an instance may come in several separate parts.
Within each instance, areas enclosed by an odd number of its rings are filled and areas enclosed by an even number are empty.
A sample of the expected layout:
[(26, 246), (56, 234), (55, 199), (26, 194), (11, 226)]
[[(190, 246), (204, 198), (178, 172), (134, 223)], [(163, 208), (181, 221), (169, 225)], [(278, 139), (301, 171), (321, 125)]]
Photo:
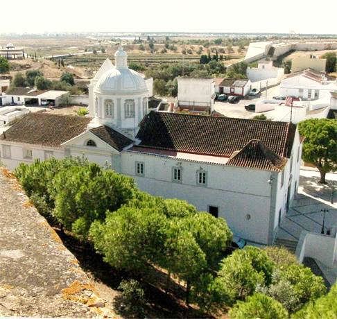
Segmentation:
[(105, 71), (94, 92), (112, 95), (135, 95), (148, 92), (144, 78), (128, 68), (128, 55), (120, 46), (114, 54), (116, 67)]

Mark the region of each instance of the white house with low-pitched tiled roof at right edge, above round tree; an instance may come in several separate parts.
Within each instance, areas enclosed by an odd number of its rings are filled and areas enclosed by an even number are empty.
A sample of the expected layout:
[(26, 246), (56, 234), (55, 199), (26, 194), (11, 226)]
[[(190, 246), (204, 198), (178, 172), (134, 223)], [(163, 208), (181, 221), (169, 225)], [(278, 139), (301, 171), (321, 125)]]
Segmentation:
[(291, 74), (279, 85), (281, 96), (293, 96), (304, 100), (317, 100), (330, 96), (337, 90), (337, 79), (311, 69)]

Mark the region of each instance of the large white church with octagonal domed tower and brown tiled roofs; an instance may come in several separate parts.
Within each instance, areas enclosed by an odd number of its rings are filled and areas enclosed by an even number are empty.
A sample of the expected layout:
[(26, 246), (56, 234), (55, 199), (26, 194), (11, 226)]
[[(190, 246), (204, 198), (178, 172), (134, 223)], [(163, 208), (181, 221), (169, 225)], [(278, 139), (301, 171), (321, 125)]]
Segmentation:
[(8, 169), (49, 157), (85, 156), (135, 178), (156, 196), (180, 198), (223, 217), (234, 234), (273, 243), (297, 192), (297, 126), (148, 112), (144, 78), (120, 47), (89, 85), (89, 117), (35, 112), (0, 135)]

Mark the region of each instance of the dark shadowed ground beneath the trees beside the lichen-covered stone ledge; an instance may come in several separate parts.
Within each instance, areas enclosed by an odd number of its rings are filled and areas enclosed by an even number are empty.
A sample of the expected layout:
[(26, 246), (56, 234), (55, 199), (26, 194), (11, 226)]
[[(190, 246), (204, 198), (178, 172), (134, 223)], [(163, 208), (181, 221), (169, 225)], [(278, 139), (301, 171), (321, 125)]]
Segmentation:
[[(117, 290), (123, 279), (136, 279), (146, 295), (146, 318), (212, 318), (196, 307), (188, 308), (184, 303), (185, 288), (159, 268), (149, 268), (141, 274), (116, 270), (96, 253), (92, 245), (84, 243), (70, 234), (55, 228), (64, 245), (78, 259), (80, 267), (95, 280)], [(168, 284), (168, 291), (166, 291)]]

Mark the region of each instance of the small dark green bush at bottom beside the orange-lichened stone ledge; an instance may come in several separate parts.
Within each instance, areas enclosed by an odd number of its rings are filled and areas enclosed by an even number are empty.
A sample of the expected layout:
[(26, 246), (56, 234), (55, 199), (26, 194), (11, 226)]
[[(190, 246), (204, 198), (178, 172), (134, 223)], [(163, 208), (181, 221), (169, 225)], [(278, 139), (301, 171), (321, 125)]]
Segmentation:
[(114, 307), (126, 318), (144, 318), (146, 299), (137, 280), (123, 280), (119, 285), (121, 295), (114, 300)]

